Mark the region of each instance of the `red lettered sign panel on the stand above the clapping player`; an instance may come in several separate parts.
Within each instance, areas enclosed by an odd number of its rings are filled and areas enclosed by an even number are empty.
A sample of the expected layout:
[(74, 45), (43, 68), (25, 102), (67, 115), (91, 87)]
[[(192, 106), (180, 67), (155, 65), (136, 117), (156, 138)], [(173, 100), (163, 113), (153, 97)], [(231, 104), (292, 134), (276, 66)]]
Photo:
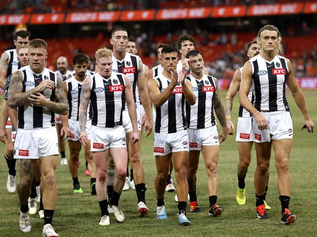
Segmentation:
[(157, 20), (169, 19), (193, 19), (208, 18), (211, 15), (211, 7), (182, 8), (182, 9), (161, 9), (157, 11)]

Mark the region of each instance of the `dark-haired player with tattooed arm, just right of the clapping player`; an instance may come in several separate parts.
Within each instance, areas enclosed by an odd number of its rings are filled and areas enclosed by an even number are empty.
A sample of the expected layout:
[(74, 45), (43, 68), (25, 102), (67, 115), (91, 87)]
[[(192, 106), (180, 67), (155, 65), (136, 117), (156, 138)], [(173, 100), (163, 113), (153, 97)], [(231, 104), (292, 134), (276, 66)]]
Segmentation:
[[(204, 59), (201, 52), (192, 50), (187, 53), (186, 58), (188, 59), (191, 72), (187, 78), (191, 82), (192, 91), (196, 99), (194, 105), (186, 103), (186, 122), (190, 145), (187, 171), (190, 212), (200, 212), (196, 196), (196, 172), (200, 151), (202, 151), (208, 174), (209, 215), (217, 217), (223, 212), (223, 209), (217, 204), (219, 185), (217, 163), (219, 158), (219, 142), (222, 143), (227, 137), (225, 110), (218, 93), (217, 79), (203, 73)], [(219, 139), (213, 109), (222, 127)]]

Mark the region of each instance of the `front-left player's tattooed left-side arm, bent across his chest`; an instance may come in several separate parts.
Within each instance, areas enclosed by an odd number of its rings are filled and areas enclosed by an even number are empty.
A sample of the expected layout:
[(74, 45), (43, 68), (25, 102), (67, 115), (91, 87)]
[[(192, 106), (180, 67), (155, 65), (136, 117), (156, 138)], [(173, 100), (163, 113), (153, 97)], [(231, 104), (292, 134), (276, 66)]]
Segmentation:
[(21, 105), (24, 105), (28, 102), (28, 97), (30, 95), (34, 95), (38, 92), (42, 92), (45, 89), (51, 89), (54, 88), (54, 82), (51, 80), (44, 80), (40, 85), (37, 87), (22, 92), (23, 90), (23, 79), (22, 79), (22, 73), (20, 71), (17, 71), (13, 73), (10, 81), (10, 86), (8, 90), (8, 105), (10, 108), (14, 109), (16, 107), (19, 107)]

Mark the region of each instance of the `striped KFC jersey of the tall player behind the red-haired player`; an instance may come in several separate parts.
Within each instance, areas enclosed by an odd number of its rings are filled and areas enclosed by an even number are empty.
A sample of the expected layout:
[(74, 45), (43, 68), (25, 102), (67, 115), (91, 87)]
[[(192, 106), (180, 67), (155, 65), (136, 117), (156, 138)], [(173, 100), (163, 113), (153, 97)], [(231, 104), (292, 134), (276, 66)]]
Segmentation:
[[(130, 79), (134, 102), (136, 103), (135, 91), (137, 88), (138, 81), (138, 71), (139, 71), (139, 60), (138, 55), (132, 55), (126, 53), (126, 56), (123, 60), (118, 60), (115, 56), (112, 55), (112, 72), (113, 73), (123, 73), (126, 74)], [(124, 109), (127, 109), (127, 105)]]

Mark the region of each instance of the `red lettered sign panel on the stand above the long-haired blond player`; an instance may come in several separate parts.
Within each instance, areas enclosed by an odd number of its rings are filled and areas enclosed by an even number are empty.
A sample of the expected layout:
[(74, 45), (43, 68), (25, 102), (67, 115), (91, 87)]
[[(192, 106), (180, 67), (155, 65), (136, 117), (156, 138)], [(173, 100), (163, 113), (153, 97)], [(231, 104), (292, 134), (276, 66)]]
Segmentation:
[(298, 14), (302, 9), (303, 3), (253, 5), (249, 7), (247, 16)]

